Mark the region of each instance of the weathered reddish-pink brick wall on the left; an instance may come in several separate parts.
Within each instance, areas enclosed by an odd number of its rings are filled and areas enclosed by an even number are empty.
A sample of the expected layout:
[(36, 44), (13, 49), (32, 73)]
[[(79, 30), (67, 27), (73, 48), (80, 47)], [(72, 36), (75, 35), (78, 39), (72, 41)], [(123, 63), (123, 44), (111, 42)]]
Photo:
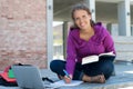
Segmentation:
[(14, 62), (47, 67), (47, 0), (0, 0), (0, 70)]

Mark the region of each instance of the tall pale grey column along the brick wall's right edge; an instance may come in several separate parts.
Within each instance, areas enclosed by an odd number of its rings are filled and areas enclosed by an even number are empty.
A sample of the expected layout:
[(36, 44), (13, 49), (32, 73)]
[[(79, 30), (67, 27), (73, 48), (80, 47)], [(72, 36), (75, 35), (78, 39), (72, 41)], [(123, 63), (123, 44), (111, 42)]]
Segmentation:
[(50, 61), (53, 59), (53, 0), (47, 0), (47, 39), (48, 39), (48, 69)]

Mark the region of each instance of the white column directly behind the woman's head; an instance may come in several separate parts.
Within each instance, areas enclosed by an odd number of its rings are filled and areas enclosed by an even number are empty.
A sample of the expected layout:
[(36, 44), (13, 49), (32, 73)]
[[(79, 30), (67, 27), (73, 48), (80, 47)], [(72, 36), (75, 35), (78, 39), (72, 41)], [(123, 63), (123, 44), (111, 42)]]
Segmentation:
[(92, 13), (92, 20), (95, 21), (95, 0), (85, 0), (85, 3), (89, 6), (89, 9)]

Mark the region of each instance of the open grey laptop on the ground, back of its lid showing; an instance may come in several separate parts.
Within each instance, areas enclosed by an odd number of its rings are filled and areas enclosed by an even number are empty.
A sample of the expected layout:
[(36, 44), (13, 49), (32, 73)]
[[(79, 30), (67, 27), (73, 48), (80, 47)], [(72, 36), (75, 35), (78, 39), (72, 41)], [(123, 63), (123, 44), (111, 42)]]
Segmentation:
[(39, 68), (34, 66), (12, 66), (18, 86), (22, 89), (44, 89)]

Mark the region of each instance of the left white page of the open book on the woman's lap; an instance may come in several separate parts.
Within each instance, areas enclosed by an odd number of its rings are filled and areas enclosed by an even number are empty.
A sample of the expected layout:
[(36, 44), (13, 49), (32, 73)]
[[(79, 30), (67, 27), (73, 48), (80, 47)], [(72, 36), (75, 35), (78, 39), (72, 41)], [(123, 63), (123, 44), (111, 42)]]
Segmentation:
[(82, 59), (82, 65), (99, 61), (99, 56), (89, 56)]

